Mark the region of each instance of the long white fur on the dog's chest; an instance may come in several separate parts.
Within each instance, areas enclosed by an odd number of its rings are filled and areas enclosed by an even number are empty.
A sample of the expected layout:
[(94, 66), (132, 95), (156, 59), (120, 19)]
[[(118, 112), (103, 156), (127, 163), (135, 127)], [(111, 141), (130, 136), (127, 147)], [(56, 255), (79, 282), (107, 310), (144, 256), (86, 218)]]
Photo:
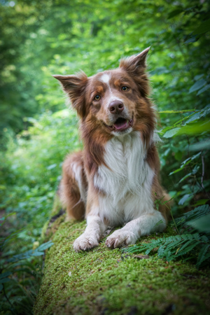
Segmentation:
[(105, 146), (104, 160), (94, 175), (94, 186), (105, 193), (99, 197), (99, 216), (111, 225), (126, 223), (153, 212), (151, 185), (154, 172), (146, 162), (139, 132), (114, 137)]

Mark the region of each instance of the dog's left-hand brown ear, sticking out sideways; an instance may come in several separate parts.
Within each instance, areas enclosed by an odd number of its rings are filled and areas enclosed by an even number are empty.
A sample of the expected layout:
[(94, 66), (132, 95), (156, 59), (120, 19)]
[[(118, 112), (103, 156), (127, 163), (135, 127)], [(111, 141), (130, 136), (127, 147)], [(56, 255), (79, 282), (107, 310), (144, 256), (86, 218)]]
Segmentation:
[(64, 92), (68, 94), (71, 100), (73, 109), (76, 109), (80, 117), (85, 117), (85, 87), (88, 81), (86, 74), (83, 71), (75, 76), (59, 76), (59, 74), (55, 74), (54, 78), (62, 84)]

